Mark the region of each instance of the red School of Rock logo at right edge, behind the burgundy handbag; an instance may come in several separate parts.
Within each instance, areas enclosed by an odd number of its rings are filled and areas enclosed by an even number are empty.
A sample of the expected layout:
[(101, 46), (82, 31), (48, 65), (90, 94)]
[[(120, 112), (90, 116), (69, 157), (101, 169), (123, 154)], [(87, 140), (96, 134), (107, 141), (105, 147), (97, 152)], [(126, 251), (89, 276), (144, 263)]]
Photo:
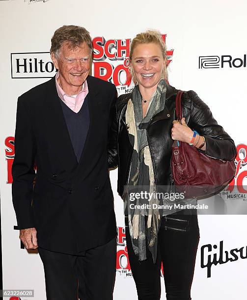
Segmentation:
[(247, 145), (239, 144), (235, 158), (236, 173), (226, 190), (220, 192), (220, 196), (227, 199), (247, 200)]

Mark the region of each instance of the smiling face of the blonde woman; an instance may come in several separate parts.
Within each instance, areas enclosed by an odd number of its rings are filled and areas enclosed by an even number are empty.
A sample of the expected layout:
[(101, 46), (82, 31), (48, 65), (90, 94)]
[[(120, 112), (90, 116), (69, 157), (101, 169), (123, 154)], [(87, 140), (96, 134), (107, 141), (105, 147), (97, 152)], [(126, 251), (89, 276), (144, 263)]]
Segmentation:
[(139, 44), (135, 47), (131, 64), (135, 79), (144, 88), (155, 88), (162, 77), (165, 59), (159, 45)]

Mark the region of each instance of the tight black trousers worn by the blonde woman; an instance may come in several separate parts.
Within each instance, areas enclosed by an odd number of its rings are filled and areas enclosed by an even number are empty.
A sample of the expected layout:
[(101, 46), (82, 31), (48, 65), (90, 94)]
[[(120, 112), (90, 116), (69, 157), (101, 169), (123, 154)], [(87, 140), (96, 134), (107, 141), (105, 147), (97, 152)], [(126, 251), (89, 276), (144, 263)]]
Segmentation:
[[(138, 261), (138, 256), (132, 248), (129, 227), (125, 227), (128, 256), (138, 300), (160, 300), (161, 263), (164, 268), (166, 299), (191, 300), (191, 285), (199, 242), (197, 215), (170, 216), (185, 222), (166, 220), (162, 217), (156, 263), (153, 262), (148, 249), (147, 259)], [(125, 225), (128, 225), (127, 220)]]

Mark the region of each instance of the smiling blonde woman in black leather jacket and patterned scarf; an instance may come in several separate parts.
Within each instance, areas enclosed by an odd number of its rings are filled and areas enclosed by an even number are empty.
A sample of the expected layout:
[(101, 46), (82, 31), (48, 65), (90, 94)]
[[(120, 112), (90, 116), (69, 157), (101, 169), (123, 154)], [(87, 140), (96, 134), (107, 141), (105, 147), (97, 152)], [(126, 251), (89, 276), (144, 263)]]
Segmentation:
[(196, 211), (137, 209), (134, 204), (140, 201), (130, 199), (124, 187), (152, 192), (162, 186), (169, 192), (173, 140), (191, 143), (193, 130), (197, 133), (192, 147), (212, 157), (231, 160), (236, 148), (193, 91), (184, 93), (182, 124), (173, 120), (177, 90), (167, 83), (166, 50), (159, 32), (137, 34), (130, 62), (136, 86), (117, 100), (117, 147), (109, 159), (118, 165), (118, 193), (125, 201), (127, 248), (138, 299), (160, 299), (163, 262), (166, 299), (190, 300), (199, 241)]

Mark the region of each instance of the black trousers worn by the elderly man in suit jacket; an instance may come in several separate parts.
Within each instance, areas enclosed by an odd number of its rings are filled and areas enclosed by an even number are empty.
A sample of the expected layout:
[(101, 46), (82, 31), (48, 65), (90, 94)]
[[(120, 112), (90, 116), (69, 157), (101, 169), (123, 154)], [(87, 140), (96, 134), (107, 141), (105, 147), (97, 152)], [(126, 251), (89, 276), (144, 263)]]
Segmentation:
[(47, 300), (112, 300), (116, 274), (116, 238), (83, 255), (39, 247)]

